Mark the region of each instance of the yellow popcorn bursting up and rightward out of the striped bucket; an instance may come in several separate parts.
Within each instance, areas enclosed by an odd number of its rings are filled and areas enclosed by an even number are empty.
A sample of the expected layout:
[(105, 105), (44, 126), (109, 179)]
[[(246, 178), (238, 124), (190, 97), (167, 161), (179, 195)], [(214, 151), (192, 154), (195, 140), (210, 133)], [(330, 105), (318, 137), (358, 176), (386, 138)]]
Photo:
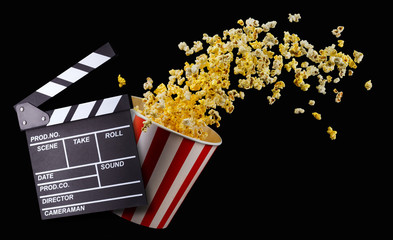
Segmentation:
[[(290, 22), (298, 22), (300, 18), (300, 14), (289, 14), (288, 17)], [(346, 75), (348, 67), (356, 69), (356, 64), (363, 59), (361, 52), (354, 51), (352, 57), (338, 51), (335, 44), (318, 51), (308, 41), (287, 31), (280, 43), (270, 32), (275, 28), (276, 21), (260, 25), (258, 20), (249, 18), (237, 23), (240, 28), (225, 30), (222, 36), (203, 34), (202, 40), (208, 46), (206, 53), (196, 56), (194, 63), (186, 62), (183, 69), (170, 70), (166, 85), (161, 83), (150, 91), (153, 80), (147, 78), (143, 85), (147, 90), (143, 95), (144, 109), (137, 109), (149, 119), (145, 122), (144, 130), (153, 121), (203, 140), (207, 137), (204, 131), (206, 126), (220, 126), (218, 108), (232, 113), (234, 101), (244, 99), (243, 91), (231, 88), (231, 73), (240, 76), (237, 83), (240, 89), (261, 90), (273, 85), (272, 94), (267, 97), (268, 103), (273, 104), (285, 88), (284, 81), (277, 81), (283, 68), (294, 73), (293, 83), (301, 91), (308, 91), (311, 87), (309, 78), (316, 77), (319, 83), (317, 91), (326, 94), (327, 83), (338, 83)], [(344, 27), (339, 26), (332, 33), (340, 37), (343, 30)], [(338, 46), (343, 47), (343, 44), (344, 41), (339, 40)], [(194, 41), (191, 48), (185, 42), (179, 43), (178, 47), (187, 56), (203, 50), (201, 41)], [(306, 60), (299, 64), (296, 59), (301, 57)], [(235, 65), (231, 67), (233, 61)], [(338, 70), (338, 76), (334, 79), (331, 75), (323, 76), (331, 74), (334, 69)], [(348, 71), (348, 75), (352, 74), (352, 70)], [(371, 88), (371, 82), (366, 84), (366, 88)], [(340, 102), (343, 92), (334, 89), (334, 93), (335, 101)], [(310, 100), (309, 105), (314, 104), (315, 101)], [(302, 108), (295, 109), (296, 114), (304, 112)], [(321, 114), (313, 112), (312, 115), (321, 120)], [(331, 127), (328, 133), (332, 140), (336, 138), (337, 131)]]

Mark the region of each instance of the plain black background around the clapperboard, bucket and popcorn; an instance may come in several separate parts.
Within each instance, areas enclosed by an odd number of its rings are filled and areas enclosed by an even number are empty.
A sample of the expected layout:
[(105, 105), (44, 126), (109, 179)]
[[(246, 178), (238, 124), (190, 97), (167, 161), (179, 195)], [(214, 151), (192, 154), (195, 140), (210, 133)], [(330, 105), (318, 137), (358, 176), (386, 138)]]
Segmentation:
[[(387, 184), (391, 100), (389, 93), (382, 93), (391, 81), (387, 3), (145, 1), (119, 5), (111, 1), (94, 6), (56, 2), (5, 8), (2, 102), (6, 112), (2, 116), (7, 123), (3, 121), (1, 215), (6, 225), (2, 228), (32, 237), (81, 234), (113, 239), (213, 233), (375, 237), (388, 226), (383, 217), (388, 214), (391, 190)], [(300, 22), (289, 23), (288, 13), (300, 13)], [(223, 144), (165, 230), (142, 227), (109, 212), (40, 220), (26, 139), (18, 129), (14, 104), (108, 41), (118, 53), (116, 58), (40, 108), (124, 93), (141, 96), (146, 77), (152, 77), (157, 86), (167, 82), (170, 69), (194, 61), (194, 55), (186, 57), (178, 49), (179, 42), (192, 45), (203, 33), (222, 35), (225, 29), (237, 28), (238, 19), (249, 17), (261, 24), (276, 20), (271, 32), (280, 42), (286, 30), (316, 49), (337, 44), (331, 30), (345, 26), (342, 51), (363, 52), (364, 60), (354, 76), (327, 85), (326, 95), (317, 93), (316, 78), (307, 93), (300, 91), (292, 84), (293, 73), (279, 76), (287, 87), (272, 106), (266, 100), (271, 87), (246, 91), (245, 100), (235, 102), (231, 115), (221, 114), (221, 127), (216, 130)], [(117, 86), (118, 74), (127, 80), (123, 88)], [(374, 87), (368, 92), (364, 83), (370, 79)], [(340, 104), (334, 102), (335, 87), (344, 92)], [(315, 99), (316, 106), (309, 107), (309, 99)], [(296, 107), (306, 113), (293, 114)], [(313, 111), (322, 114), (321, 121), (311, 116)], [(335, 141), (326, 133), (329, 125), (338, 130)]]

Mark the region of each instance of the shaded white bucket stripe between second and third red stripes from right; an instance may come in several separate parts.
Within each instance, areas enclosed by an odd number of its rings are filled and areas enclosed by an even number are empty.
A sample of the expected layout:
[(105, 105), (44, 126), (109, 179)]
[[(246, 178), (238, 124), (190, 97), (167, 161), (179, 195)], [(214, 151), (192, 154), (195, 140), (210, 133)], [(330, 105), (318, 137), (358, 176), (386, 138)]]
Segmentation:
[(153, 198), (157, 193), (158, 187), (160, 186), (166, 172), (168, 171), (169, 166), (172, 163), (177, 149), (179, 149), (182, 139), (182, 137), (173, 133), (169, 135), (165, 147), (160, 155), (160, 158), (158, 159), (157, 165), (154, 168), (154, 171), (145, 189), (147, 202), (149, 203), (149, 205), (138, 207), (135, 210), (135, 213), (131, 219), (132, 222), (138, 224), (142, 222), (143, 218), (145, 217), (146, 211), (150, 207), (150, 203), (153, 201)]

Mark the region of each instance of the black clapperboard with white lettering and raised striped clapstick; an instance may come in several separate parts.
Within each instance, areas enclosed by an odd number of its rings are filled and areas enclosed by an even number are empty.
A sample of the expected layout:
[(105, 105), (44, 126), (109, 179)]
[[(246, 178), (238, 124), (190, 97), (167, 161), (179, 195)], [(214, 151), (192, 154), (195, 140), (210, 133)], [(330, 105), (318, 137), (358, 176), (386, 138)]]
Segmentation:
[(147, 204), (128, 95), (37, 108), (113, 56), (105, 44), (14, 106), (42, 219)]

